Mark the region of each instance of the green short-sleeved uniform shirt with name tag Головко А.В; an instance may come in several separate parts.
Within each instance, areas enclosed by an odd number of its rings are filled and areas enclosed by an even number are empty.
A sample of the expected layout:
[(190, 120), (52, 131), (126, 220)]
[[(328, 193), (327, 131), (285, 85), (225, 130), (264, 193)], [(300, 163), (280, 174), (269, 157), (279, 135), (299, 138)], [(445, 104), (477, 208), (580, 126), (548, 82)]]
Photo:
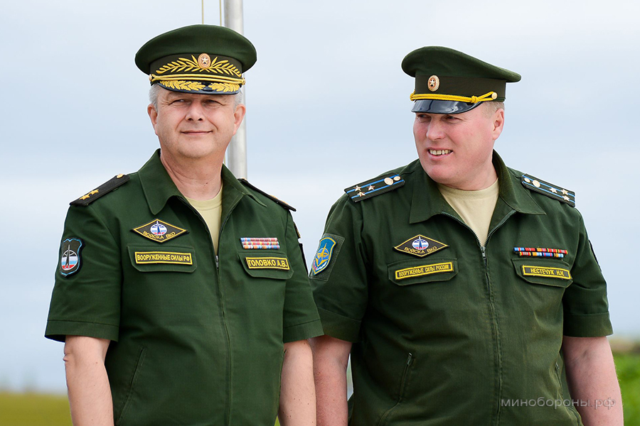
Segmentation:
[(322, 334), (291, 215), (223, 167), (214, 253), (159, 151), (129, 176), (70, 207), (46, 337), (112, 340), (116, 425), (272, 426), (283, 344)]

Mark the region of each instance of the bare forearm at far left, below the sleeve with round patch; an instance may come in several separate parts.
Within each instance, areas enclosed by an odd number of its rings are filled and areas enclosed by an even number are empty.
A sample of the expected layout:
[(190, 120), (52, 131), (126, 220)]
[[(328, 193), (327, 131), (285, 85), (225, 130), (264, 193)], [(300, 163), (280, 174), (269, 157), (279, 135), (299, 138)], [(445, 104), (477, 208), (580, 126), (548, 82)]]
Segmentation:
[(105, 369), (110, 342), (86, 336), (65, 339), (65, 371), (74, 426), (113, 425), (113, 402)]

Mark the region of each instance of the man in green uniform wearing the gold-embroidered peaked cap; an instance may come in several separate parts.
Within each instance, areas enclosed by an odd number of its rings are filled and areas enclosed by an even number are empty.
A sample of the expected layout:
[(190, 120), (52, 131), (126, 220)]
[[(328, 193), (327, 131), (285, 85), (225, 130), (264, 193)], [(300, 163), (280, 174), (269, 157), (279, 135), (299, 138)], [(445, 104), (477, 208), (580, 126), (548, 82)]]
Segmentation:
[(71, 202), (46, 327), (75, 425), (315, 422), (322, 331), (292, 207), (223, 165), (255, 60), (204, 25), (136, 55), (160, 149)]

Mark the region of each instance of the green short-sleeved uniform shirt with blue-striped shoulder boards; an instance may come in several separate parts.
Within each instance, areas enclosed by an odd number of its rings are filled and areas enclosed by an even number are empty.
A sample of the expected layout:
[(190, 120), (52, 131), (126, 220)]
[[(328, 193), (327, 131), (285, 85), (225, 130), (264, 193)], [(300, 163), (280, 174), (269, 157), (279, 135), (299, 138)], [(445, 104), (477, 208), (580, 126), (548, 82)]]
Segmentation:
[(611, 334), (604, 278), (580, 212), (494, 166), (486, 248), (418, 160), (331, 208), (310, 277), (324, 332), (353, 342), (349, 425), (581, 424), (560, 346)]

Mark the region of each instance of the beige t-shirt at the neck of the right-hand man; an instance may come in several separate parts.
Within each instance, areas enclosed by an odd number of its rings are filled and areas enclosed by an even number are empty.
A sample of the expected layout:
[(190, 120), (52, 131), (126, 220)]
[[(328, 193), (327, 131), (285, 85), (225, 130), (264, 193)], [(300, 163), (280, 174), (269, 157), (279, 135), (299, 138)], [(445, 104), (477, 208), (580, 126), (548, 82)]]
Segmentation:
[(463, 191), (438, 184), (438, 189), (449, 205), (462, 217), (464, 223), (473, 229), (480, 244), (484, 246), (489, 234), (491, 216), (498, 201), (498, 180), (490, 187), (479, 191)]

